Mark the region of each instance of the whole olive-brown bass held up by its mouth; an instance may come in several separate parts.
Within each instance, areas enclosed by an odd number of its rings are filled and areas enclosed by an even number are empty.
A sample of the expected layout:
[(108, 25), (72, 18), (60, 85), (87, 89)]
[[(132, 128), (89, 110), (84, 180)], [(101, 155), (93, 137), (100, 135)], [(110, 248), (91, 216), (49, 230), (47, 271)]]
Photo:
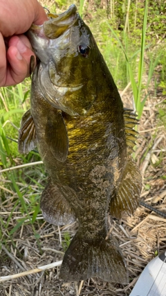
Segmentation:
[(27, 33), (37, 66), (19, 152), (36, 146), (48, 172), (40, 207), (54, 225), (78, 222), (59, 277), (127, 284), (124, 256), (109, 217), (133, 214), (142, 177), (131, 156), (136, 114), (125, 109), (93, 34), (71, 5)]

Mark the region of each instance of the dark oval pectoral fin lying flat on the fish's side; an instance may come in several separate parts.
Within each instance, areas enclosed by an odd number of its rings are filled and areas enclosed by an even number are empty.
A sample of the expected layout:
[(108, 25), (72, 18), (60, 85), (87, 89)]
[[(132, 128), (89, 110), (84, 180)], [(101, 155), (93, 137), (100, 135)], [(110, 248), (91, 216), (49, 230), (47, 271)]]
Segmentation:
[(46, 141), (59, 162), (65, 162), (68, 155), (68, 134), (62, 112), (53, 108), (46, 123)]

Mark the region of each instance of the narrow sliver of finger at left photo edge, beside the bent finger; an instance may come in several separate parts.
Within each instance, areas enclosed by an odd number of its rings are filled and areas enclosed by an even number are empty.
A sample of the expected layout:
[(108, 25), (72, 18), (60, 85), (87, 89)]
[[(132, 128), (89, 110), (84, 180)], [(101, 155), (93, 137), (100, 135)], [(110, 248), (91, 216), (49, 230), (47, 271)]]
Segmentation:
[(0, 33), (0, 87), (5, 84), (6, 81), (6, 46), (3, 40), (3, 36)]

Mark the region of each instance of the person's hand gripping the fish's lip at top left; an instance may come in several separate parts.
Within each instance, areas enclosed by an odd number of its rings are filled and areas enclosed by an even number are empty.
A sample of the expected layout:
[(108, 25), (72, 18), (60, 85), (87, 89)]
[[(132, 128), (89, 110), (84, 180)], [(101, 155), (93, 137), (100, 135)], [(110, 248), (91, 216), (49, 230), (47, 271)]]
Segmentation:
[(37, 0), (1, 0), (0, 87), (16, 85), (29, 76), (30, 56), (35, 55), (26, 35), (31, 24), (47, 20)]

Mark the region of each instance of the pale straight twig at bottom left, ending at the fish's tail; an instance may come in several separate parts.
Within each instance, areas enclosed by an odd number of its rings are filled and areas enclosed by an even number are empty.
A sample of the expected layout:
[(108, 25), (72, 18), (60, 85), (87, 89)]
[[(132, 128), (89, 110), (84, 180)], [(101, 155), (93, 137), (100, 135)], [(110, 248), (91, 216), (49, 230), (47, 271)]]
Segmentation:
[(26, 270), (24, 272), (16, 273), (15, 275), (7, 275), (6, 277), (0, 277), (1, 281), (9, 281), (10, 279), (17, 279), (17, 277), (25, 277), (26, 275), (33, 275), (33, 273), (41, 272), (43, 270), (48, 270), (50, 268), (55, 268), (57, 266), (60, 266), (62, 264), (61, 261), (53, 262), (47, 265), (38, 266), (38, 268), (32, 269), (32, 270)]

